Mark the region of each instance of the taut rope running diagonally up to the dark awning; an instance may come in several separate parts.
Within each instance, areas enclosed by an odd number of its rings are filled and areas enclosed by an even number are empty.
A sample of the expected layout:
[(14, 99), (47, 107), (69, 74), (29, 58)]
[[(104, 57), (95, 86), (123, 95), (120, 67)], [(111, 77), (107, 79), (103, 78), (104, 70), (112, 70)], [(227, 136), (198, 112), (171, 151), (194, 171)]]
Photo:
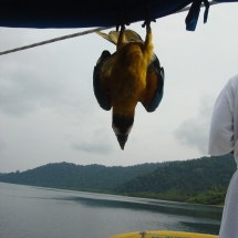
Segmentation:
[[(211, 4), (218, 4), (218, 3), (221, 3), (221, 2), (215, 2), (215, 1), (209, 2), (210, 6)], [(204, 7), (204, 3), (201, 4), (201, 7)], [(188, 11), (189, 9), (190, 9), (190, 7), (186, 7), (186, 8), (182, 9), (182, 10), (175, 12), (174, 14), (180, 13), (180, 12), (184, 12), (184, 11)], [(51, 40), (42, 41), (42, 42), (39, 42), (39, 43), (28, 44), (25, 46), (21, 46), (21, 48), (15, 48), (15, 49), (12, 49), (12, 50), (2, 51), (2, 52), (0, 52), (0, 55), (13, 53), (13, 52), (17, 52), (17, 51), (23, 51), (23, 50), (27, 50), (27, 49), (30, 49), (30, 48), (37, 48), (37, 46), (41, 46), (41, 45), (44, 45), (44, 44), (50, 44), (50, 43), (53, 43), (53, 42), (56, 42), (56, 41), (63, 41), (63, 40), (71, 39), (71, 38), (82, 37), (84, 34), (94, 33), (96, 31), (108, 30), (111, 28), (114, 28), (114, 27), (96, 28), (96, 29), (92, 29), (92, 30), (87, 30), (87, 31), (83, 31), (83, 32), (68, 34), (68, 35), (60, 37), (60, 38), (53, 38)]]

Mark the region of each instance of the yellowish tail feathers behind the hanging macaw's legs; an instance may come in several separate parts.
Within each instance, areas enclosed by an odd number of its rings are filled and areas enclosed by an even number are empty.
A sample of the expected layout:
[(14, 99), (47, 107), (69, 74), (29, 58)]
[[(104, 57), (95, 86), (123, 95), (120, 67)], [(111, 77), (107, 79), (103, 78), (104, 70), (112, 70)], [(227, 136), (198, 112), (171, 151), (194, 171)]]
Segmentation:
[[(107, 41), (110, 41), (113, 44), (117, 43), (118, 35), (120, 35), (118, 31), (111, 31), (108, 34), (102, 33), (101, 31), (96, 31), (96, 33), (99, 35), (101, 35), (102, 38), (106, 39)], [(131, 42), (131, 41), (141, 41), (141, 42), (143, 42), (143, 40), (139, 37), (139, 34), (137, 34), (135, 31), (132, 31), (132, 30), (126, 30), (125, 31), (125, 40), (127, 42)]]

